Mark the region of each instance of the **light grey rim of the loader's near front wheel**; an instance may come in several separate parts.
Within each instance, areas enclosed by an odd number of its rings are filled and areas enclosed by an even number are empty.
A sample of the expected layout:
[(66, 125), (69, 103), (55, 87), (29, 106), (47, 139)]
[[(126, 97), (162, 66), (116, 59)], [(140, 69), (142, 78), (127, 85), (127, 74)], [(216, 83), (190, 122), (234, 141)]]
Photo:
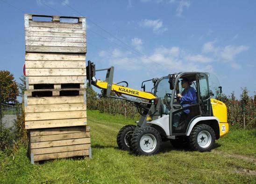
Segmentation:
[(152, 134), (145, 134), (140, 141), (140, 147), (142, 151), (149, 153), (156, 148), (156, 137)]

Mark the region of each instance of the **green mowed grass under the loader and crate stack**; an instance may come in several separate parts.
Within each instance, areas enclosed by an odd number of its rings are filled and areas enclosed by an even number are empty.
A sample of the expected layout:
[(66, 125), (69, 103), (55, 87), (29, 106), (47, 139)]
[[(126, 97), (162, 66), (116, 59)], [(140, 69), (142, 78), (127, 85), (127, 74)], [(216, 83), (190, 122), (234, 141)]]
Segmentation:
[(0, 183), (256, 183), (256, 130), (232, 130), (211, 152), (175, 150), (163, 143), (155, 156), (118, 150), (119, 116), (88, 111), (92, 159), (59, 159), (32, 165), (21, 147), (0, 153)]

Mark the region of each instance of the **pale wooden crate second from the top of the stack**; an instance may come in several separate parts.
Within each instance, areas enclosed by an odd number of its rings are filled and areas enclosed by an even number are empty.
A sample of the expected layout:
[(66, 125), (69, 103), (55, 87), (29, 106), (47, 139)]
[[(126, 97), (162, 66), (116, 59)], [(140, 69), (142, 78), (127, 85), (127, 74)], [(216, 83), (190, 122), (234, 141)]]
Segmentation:
[(28, 85), (86, 82), (84, 54), (26, 53), (25, 65)]

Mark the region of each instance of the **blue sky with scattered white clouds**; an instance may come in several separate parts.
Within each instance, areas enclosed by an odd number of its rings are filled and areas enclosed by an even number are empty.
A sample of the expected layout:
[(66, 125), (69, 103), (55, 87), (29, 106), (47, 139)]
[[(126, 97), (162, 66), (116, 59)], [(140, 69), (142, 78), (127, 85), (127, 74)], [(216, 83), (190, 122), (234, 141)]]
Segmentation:
[(144, 80), (203, 71), (216, 75), (227, 95), (239, 98), (244, 87), (254, 95), (255, 9), (255, 0), (0, 0), (0, 70), (19, 82), (24, 13), (85, 16), (86, 61), (114, 66), (114, 82), (141, 89)]

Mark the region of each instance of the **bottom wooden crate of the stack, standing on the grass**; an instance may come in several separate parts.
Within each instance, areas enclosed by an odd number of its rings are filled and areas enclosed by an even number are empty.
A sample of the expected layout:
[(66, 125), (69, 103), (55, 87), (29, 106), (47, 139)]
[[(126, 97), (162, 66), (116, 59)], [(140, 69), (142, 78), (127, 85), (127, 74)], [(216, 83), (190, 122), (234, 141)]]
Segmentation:
[(66, 157), (92, 157), (90, 126), (28, 130), (31, 163)]

